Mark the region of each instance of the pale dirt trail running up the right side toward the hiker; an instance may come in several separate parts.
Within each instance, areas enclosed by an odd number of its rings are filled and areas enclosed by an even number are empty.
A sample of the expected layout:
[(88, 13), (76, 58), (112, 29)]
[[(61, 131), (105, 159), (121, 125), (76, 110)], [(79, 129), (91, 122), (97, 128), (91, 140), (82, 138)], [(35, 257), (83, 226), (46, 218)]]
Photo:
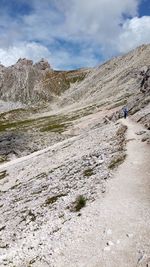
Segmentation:
[(136, 134), (142, 126), (122, 122), (128, 126), (127, 158), (105, 197), (83, 211), (56, 266), (150, 266), (150, 149)]

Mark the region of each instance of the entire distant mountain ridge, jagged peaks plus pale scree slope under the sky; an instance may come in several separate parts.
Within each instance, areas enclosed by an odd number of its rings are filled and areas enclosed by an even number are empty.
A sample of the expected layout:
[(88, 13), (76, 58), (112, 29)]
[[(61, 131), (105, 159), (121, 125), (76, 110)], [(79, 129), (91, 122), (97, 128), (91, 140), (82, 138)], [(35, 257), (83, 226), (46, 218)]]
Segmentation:
[(103, 105), (114, 98), (122, 101), (139, 90), (149, 91), (149, 55), (150, 45), (142, 45), (97, 68), (72, 71), (55, 71), (45, 59), (35, 64), (19, 59), (10, 67), (0, 65), (0, 99), (25, 104), (55, 102), (58, 107)]

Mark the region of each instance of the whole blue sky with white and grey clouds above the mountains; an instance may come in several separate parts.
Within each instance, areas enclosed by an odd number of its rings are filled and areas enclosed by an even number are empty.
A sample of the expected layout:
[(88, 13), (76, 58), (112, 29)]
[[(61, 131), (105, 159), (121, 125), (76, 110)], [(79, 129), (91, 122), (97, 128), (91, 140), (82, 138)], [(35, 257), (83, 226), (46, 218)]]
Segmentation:
[(150, 43), (150, 0), (0, 0), (0, 63), (93, 67)]

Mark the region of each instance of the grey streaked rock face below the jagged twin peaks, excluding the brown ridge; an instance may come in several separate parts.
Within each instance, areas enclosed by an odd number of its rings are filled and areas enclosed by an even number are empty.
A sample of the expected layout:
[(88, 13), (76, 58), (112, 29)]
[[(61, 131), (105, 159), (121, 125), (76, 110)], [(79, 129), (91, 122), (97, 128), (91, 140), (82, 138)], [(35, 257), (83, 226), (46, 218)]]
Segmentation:
[(5, 101), (22, 103), (36, 102), (45, 97), (38, 84), (43, 73), (36, 69), (31, 60), (19, 59), (18, 62), (0, 71), (0, 98)]

